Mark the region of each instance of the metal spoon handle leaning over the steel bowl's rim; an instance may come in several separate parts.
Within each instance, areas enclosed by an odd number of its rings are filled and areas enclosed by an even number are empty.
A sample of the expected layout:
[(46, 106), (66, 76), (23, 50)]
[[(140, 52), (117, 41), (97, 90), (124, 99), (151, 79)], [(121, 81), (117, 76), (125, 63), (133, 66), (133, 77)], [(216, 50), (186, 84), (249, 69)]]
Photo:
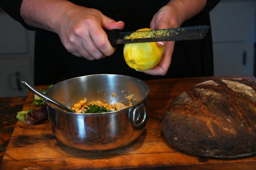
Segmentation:
[(71, 110), (70, 108), (62, 105), (61, 103), (57, 102), (56, 100), (54, 100), (52, 97), (47, 96), (46, 94), (44, 94), (43, 92), (41, 92), (40, 90), (38, 90), (37, 88), (35, 88), (30, 82), (28, 81), (20, 81), (26, 88), (28, 88), (28, 90), (30, 90), (31, 92), (33, 92), (34, 94), (38, 95), (39, 97), (51, 102), (52, 104), (54, 104), (55, 106), (60, 107), (61, 109), (68, 111), (68, 112), (73, 112), (73, 110)]

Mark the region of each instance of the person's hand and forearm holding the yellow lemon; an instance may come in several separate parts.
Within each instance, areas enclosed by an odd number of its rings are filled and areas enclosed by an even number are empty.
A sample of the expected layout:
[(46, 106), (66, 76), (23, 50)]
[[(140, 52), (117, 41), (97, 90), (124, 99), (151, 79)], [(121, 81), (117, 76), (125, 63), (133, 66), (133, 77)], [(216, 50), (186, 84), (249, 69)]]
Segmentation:
[[(206, 0), (171, 0), (163, 6), (153, 17), (151, 29), (178, 28), (181, 24), (201, 12), (204, 9)], [(152, 69), (143, 71), (151, 75), (165, 75), (170, 67), (174, 41), (157, 42), (157, 45), (165, 46), (160, 62)]]

